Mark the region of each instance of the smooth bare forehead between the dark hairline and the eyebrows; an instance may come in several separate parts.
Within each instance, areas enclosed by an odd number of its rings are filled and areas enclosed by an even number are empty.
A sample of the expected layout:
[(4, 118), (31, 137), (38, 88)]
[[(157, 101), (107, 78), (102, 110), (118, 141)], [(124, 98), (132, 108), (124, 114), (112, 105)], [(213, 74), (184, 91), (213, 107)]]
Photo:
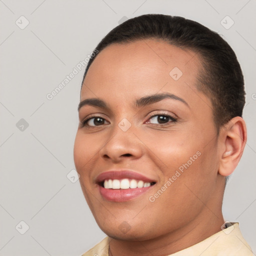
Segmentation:
[(81, 90), (81, 100), (105, 97), (124, 101), (161, 92), (189, 96), (196, 89), (200, 57), (155, 39), (110, 44), (91, 63)]

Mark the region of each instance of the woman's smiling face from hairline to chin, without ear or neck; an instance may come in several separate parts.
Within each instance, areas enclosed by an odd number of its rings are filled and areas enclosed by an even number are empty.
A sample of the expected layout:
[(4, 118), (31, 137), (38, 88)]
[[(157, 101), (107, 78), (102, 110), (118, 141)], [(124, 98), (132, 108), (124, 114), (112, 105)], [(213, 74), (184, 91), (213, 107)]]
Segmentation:
[(111, 44), (89, 67), (74, 162), (108, 236), (159, 237), (213, 203), (217, 136), (199, 68), (194, 52), (152, 39)]

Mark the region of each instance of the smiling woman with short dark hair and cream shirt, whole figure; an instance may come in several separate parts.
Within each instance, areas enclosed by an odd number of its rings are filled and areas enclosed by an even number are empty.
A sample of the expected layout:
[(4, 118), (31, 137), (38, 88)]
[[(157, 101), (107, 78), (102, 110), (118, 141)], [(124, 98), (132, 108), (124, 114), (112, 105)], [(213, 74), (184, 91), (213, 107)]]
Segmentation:
[(252, 255), (221, 211), (246, 142), (230, 46), (195, 21), (147, 14), (112, 29), (94, 52), (74, 162), (107, 237), (83, 255)]

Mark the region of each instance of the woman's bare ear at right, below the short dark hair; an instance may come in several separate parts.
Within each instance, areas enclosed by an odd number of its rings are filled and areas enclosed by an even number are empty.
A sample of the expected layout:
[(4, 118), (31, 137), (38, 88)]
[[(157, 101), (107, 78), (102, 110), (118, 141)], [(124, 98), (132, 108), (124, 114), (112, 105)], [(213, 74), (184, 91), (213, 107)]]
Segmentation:
[(222, 176), (230, 175), (237, 166), (247, 139), (244, 120), (236, 116), (220, 129), (220, 164), (218, 173)]

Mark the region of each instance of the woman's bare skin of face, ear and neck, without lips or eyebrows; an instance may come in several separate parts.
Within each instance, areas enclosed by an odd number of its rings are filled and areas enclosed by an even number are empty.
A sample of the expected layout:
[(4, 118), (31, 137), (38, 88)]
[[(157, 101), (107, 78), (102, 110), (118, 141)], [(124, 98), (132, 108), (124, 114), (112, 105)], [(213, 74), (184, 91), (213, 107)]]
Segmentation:
[[(176, 81), (169, 75), (174, 67), (183, 73)], [(96, 114), (105, 122), (79, 124), (74, 162), (92, 214), (110, 237), (110, 255), (168, 255), (221, 230), (224, 178), (242, 155), (246, 128), (241, 117), (234, 117), (217, 136), (210, 98), (196, 88), (200, 67), (193, 51), (147, 39), (107, 46), (88, 69), (80, 100), (100, 98), (108, 108), (79, 109), (80, 121)], [(134, 105), (138, 98), (164, 92), (187, 105), (171, 98)], [(177, 120), (159, 124), (151, 118), (156, 114)], [(118, 126), (123, 118), (131, 123), (125, 132)], [(150, 202), (149, 196), (197, 151), (200, 156)], [(107, 201), (94, 180), (101, 172), (120, 168), (135, 170), (156, 184), (132, 200)], [(119, 228), (123, 221), (130, 226), (126, 233)]]

